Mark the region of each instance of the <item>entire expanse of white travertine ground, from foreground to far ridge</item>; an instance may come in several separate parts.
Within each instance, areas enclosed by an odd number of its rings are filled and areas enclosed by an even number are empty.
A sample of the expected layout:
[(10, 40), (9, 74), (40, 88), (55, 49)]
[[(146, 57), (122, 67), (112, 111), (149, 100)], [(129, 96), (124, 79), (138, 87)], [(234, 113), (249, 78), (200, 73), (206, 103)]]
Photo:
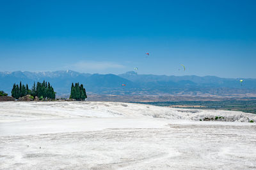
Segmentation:
[[(225, 121), (198, 121), (215, 116)], [(0, 102), (0, 169), (256, 169), (256, 123), (248, 120), (255, 114)]]

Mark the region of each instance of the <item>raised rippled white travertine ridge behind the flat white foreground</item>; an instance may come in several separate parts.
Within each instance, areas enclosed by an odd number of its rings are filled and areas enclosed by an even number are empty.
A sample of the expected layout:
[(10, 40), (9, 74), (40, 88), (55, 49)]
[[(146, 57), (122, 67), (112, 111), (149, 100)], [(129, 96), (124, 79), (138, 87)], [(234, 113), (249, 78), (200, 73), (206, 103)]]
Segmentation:
[(256, 121), (256, 114), (200, 109), (175, 109), (120, 102), (0, 102), (0, 121), (52, 118), (164, 118), (200, 120), (222, 116), (223, 121)]

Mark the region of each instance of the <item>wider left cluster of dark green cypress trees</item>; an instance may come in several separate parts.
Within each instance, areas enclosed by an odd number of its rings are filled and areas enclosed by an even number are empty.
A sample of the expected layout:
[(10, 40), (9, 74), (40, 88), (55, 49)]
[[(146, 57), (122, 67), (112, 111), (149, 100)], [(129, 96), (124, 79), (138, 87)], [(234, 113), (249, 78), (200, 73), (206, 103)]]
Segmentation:
[(55, 99), (56, 92), (52, 88), (50, 82), (37, 82), (33, 84), (32, 88), (28, 88), (28, 84), (26, 86), (20, 82), (20, 84), (13, 84), (12, 88), (12, 97), (19, 98), (24, 97), (26, 95), (31, 95), (34, 98), (37, 96), (40, 100), (45, 99)]

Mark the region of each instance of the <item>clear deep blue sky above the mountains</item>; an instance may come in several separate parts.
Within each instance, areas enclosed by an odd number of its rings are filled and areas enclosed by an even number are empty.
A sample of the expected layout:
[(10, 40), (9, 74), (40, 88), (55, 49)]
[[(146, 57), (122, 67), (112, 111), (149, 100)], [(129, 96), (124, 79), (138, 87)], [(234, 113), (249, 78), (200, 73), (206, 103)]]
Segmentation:
[(236, 0), (1, 1), (0, 71), (256, 78), (255, 9)]

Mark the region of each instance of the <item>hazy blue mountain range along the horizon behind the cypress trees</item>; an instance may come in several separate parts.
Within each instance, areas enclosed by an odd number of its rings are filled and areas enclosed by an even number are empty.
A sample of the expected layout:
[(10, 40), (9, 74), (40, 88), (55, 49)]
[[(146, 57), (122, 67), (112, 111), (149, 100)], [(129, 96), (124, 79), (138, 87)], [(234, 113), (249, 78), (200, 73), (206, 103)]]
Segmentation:
[[(49, 81), (58, 97), (67, 97), (72, 82), (83, 83), (87, 93), (112, 95), (239, 95), (256, 94), (256, 79), (225, 79), (196, 75), (120, 75), (79, 73), (72, 70), (56, 72), (0, 72), (0, 89), (10, 95), (13, 83), (32, 86), (34, 81)], [(126, 84), (126, 86), (122, 86)]]

